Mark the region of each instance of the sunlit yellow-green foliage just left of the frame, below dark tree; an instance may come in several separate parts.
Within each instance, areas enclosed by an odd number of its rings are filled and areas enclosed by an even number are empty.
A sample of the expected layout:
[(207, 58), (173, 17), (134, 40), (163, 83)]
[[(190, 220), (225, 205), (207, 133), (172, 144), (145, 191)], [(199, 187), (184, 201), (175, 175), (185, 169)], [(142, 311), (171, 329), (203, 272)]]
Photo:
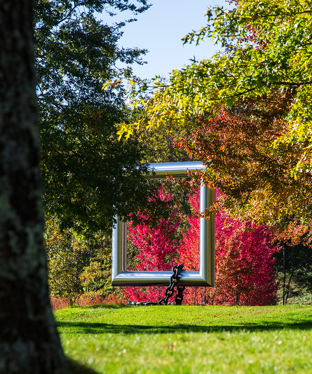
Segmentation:
[(81, 294), (102, 297), (115, 291), (111, 278), (111, 241), (98, 233), (87, 243), (72, 229), (60, 230), (57, 219), (46, 220), (45, 245), (48, 257), (49, 293), (75, 300)]

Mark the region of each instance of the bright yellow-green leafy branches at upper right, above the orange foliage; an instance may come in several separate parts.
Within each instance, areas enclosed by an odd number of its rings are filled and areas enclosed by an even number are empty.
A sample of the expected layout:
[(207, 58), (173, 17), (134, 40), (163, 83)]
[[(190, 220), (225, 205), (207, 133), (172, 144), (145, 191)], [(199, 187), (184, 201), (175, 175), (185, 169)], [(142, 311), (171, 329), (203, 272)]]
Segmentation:
[[(223, 50), (212, 59), (172, 71), (169, 79), (155, 77), (152, 88), (157, 91), (146, 109), (149, 125), (155, 126), (156, 120), (179, 122), (181, 113), (203, 114), (219, 102), (231, 106), (278, 87), (296, 94), (285, 140), (310, 144), (311, 13), (310, 1), (294, 0), (237, 1), (232, 10), (209, 9), (208, 24), (182, 40), (199, 43), (210, 37)], [(148, 84), (137, 87), (133, 81), (132, 87), (135, 95), (145, 94)], [(143, 103), (140, 95), (138, 101)], [(132, 131), (133, 126), (125, 126), (119, 134)]]

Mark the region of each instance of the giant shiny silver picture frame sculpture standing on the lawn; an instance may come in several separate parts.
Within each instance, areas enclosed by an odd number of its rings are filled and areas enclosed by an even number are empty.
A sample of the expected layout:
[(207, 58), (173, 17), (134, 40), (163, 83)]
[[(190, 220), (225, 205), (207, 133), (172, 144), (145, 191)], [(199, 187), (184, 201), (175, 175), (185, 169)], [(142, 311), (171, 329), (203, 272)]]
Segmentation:
[[(205, 168), (200, 162), (171, 162), (150, 164), (146, 178), (187, 178), (188, 171)], [(215, 190), (200, 186), (200, 212), (215, 202)], [(127, 222), (116, 218), (112, 236), (112, 285), (113, 286), (167, 286), (172, 271), (127, 270)], [(200, 218), (199, 271), (183, 271), (179, 286), (215, 286), (215, 215), (209, 220)]]

